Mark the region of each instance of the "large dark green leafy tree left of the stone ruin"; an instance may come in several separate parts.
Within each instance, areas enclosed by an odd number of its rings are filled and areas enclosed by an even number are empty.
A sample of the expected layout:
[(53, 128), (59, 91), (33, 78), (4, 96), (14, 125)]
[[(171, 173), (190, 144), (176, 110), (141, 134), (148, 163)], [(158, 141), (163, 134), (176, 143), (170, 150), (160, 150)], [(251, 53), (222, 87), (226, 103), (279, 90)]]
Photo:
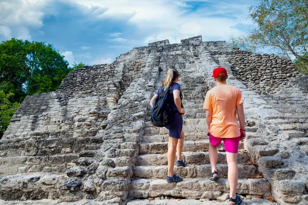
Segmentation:
[(21, 101), (26, 95), (49, 92), (60, 86), (70, 72), (67, 61), (52, 45), (12, 38), (0, 44), (0, 84), (10, 99)]

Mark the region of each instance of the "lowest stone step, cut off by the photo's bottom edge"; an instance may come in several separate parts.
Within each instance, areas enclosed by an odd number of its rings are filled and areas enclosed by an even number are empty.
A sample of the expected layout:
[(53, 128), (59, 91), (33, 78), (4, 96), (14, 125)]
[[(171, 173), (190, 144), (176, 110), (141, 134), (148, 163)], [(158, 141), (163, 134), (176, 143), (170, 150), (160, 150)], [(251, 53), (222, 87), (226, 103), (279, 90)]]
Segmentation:
[[(166, 199), (160, 199), (160, 198), (166, 198)], [(182, 198), (172, 198), (167, 196), (160, 196), (156, 198), (150, 198), (150, 199), (134, 199), (130, 200), (126, 203), (126, 205), (222, 205), (222, 204), (229, 204), (229, 199), (223, 201), (226, 197), (221, 196), (218, 200), (208, 200), (206, 199), (182, 199)], [(153, 200), (155, 199), (155, 200)], [(253, 199), (247, 199), (242, 196), (243, 205), (244, 204), (254, 204), (254, 205), (274, 205), (277, 203), (273, 203), (271, 201), (268, 201), (266, 199), (260, 199), (260, 198), (253, 198)]]

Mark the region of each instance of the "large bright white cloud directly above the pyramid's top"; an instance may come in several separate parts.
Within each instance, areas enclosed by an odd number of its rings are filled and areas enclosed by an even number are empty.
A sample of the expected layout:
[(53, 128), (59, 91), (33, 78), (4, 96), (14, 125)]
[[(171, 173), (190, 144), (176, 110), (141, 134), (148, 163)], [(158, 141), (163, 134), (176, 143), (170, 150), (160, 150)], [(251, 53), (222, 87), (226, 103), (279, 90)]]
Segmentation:
[[(243, 17), (248, 14), (247, 7), (252, 1), (198, 1), (207, 6), (193, 8), (189, 1), (174, 0), (117, 0), (96, 1), (76, 0), (87, 8), (102, 8), (97, 18), (128, 20), (129, 26), (135, 28), (138, 39), (126, 39), (125, 33), (110, 35), (110, 39), (126, 45), (140, 45), (156, 40), (169, 39), (170, 43), (179, 43), (181, 39), (202, 35), (203, 40), (225, 40), (229, 35), (243, 35), (236, 26), (252, 25)], [(196, 4), (196, 1), (195, 3)], [(201, 4), (202, 5), (202, 4)], [(190, 10), (191, 9), (191, 10)], [(143, 36), (140, 38), (140, 35)]]

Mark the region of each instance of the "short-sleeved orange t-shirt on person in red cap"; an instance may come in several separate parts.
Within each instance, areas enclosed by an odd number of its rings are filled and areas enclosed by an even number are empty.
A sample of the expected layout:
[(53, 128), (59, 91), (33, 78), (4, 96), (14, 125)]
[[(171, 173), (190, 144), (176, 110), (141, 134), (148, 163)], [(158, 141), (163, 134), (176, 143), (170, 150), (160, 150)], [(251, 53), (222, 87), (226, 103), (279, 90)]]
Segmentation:
[(212, 111), (209, 132), (215, 137), (240, 136), (236, 107), (242, 103), (242, 93), (234, 86), (220, 85), (210, 89), (206, 93), (203, 105), (204, 109)]

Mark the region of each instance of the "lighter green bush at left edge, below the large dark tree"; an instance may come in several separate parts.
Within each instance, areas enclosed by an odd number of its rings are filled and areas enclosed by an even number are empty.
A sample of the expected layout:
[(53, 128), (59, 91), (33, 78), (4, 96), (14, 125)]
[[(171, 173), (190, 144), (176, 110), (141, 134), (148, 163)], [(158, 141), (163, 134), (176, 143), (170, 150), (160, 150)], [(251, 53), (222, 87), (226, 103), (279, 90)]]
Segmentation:
[(4, 91), (0, 90), (0, 139), (2, 138), (6, 128), (10, 124), (10, 119), (17, 110), (20, 103), (11, 103), (9, 98), (14, 93), (5, 94)]

